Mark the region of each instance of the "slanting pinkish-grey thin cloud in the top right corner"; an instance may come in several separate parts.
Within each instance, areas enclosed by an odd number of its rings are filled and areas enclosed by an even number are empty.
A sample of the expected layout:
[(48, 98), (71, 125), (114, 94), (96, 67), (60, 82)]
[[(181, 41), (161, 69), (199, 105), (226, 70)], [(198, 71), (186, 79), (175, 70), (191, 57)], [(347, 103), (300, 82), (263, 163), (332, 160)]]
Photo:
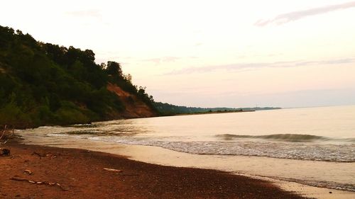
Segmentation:
[(342, 10), (346, 8), (353, 8), (355, 7), (355, 1), (347, 2), (344, 4), (337, 4), (337, 5), (329, 5), (329, 6), (322, 6), (318, 8), (310, 8), (307, 10), (303, 11), (293, 11), (290, 13), (283, 13), (278, 16), (276, 16), (273, 19), (268, 19), (268, 20), (259, 20), (254, 23), (256, 26), (263, 27), (265, 25), (269, 25), (271, 23), (275, 23), (276, 25), (281, 25), (284, 23), (288, 23), (290, 21), (296, 21), (301, 18), (305, 18), (307, 16), (314, 16), (322, 13), (328, 13), (332, 11), (337, 11), (337, 10)]

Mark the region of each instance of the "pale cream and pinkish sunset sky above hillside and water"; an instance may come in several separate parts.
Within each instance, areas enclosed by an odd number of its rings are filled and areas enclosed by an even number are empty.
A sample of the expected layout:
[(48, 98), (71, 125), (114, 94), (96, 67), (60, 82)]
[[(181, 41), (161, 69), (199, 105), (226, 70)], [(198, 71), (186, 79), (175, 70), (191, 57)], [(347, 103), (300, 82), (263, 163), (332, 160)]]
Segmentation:
[(355, 1), (4, 1), (0, 25), (121, 63), (155, 101), (355, 104)]

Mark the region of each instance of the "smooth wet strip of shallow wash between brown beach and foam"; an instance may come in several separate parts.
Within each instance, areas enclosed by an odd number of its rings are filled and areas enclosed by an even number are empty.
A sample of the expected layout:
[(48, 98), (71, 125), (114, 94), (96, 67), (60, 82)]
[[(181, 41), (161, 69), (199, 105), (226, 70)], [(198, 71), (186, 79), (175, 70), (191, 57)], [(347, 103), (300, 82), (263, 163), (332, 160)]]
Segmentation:
[[(47, 129), (45, 130), (48, 131)], [(53, 129), (53, 132), (56, 132)], [(354, 164), (337, 164), (324, 161), (299, 161), (295, 159), (275, 159), (269, 157), (243, 157), (243, 156), (202, 156), (176, 152), (163, 147), (121, 144), (99, 140), (78, 139), (67, 136), (45, 136), (45, 133), (21, 132), (25, 144), (38, 144), (41, 146), (62, 147), (71, 149), (86, 149), (95, 152), (105, 152), (128, 157), (131, 160), (158, 164), (162, 166), (214, 169), (226, 171), (229, 174), (249, 176), (274, 183), (284, 191), (298, 193), (308, 198), (354, 198), (355, 192), (332, 189), (329, 186), (314, 186), (307, 179), (317, 178), (319, 182), (353, 183), (352, 176)], [(313, 168), (310, 170), (309, 168)], [(334, 171), (337, 171), (334, 176)], [(301, 181), (300, 181), (301, 180)], [(315, 181), (315, 182), (317, 182)], [(334, 184), (332, 184), (334, 186)], [(332, 192), (330, 194), (329, 192)]]

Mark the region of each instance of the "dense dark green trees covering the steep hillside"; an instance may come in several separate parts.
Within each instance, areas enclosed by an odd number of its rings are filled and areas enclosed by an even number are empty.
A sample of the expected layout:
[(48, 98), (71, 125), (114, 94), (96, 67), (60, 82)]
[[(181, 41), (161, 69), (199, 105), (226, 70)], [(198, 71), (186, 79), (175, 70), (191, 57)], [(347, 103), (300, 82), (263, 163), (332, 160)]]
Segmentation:
[(109, 82), (153, 107), (153, 98), (133, 86), (119, 63), (96, 64), (94, 56), (0, 26), (0, 123), (33, 127), (112, 119), (124, 103), (107, 90)]

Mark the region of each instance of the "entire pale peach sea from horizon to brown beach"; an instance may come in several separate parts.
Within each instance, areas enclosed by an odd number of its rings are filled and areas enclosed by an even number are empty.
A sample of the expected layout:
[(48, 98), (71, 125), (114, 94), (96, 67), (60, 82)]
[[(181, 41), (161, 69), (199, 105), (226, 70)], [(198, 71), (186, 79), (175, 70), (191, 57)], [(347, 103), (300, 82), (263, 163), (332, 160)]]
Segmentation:
[(105, 152), (154, 164), (355, 191), (355, 106), (111, 120), (18, 134), (32, 144), (77, 147), (74, 143), (81, 142), (94, 150), (107, 144)]

